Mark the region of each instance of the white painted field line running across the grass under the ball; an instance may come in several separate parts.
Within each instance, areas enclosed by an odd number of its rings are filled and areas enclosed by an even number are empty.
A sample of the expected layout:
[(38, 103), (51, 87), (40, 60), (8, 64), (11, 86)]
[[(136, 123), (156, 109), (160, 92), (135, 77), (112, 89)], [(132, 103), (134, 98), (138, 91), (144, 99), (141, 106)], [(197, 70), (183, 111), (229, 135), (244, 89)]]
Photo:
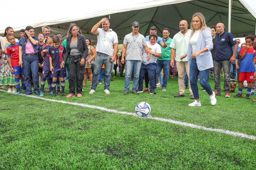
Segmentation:
[[(1, 89), (0, 89), (0, 91), (1, 92), (7, 92), (7, 91), (1, 90)], [(126, 115), (132, 115), (132, 116), (139, 117), (139, 116), (137, 116), (136, 113), (121, 112), (121, 111), (118, 111), (118, 110), (108, 109), (108, 108), (100, 107), (100, 106), (87, 105), (87, 104), (75, 103), (75, 102), (67, 102), (67, 101), (55, 100), (55, 99), (46, 99), (46, 98), (42, 98), (42, 97), (38, 97), (38, 96), (34, 96), (34, 95), (24, 95), (24, 94), (20, 94), (20, 95), (31, 97), (31, 98), (35, 98), (35, 99), (40, 99), (40, 100), (46, 100), (46, 101), (51, 101), (51, 102), (59, 102), (59, 103), (63, 103), (63, 104), (70, 104), (70, 105), (75, 105), (75, 106), (88, 107), (88, 108), (99, 109), (99, 110), (103, 110), (103, 111), (107, 111), (107, 112), (112, 112), (112, 113), (126, 114)], [(172, 123), (172, 124), (176, 124), (176, 125), (180, 125), (180, 126), (191, 127), (191, 128), (194, 128), (194, 129), (214, 131), (214, 132), (228, 134), (228, 135), (232, 135), (232, 136), (236, 136), (236, 137), (256, 140), (256, 136), (253, 136), (253, 135), (242, 134), (240, 132), (233, 132), (233, 131), (229, 131), (229, 130), (213, 129), (213, 128), (199, 126), (199, 125), (195, 125), (195, 124), (191, 124), (191, 123), (180, 122), (180, 121), (177, 121), (177, 120), (164, 119), (164, 118), (160, 118), (160, 117), (153, 117), (151, 115), (149, 115), (148, 117), (143, 118), (143, 119), (159, 120), (159, 121), (162, 121), (162, 122), (168, 122), (168, 123)]]

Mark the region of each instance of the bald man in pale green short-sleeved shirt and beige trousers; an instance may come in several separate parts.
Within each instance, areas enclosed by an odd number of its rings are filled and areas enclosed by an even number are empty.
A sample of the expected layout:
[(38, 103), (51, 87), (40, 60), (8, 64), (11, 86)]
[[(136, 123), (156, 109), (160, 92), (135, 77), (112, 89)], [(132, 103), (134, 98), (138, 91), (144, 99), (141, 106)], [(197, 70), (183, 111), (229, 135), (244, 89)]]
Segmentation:
[[(189, 41), (189, 37), (191, 34), (191, 29), (188, 28), (188, 24), (186, 20), (180, 21), (180, 32), (176, 33), (172, 39), (170, 44), (171, 49), (171, 66), (174, 66), (174, 60), (176, 61), (177, 71), (179, 73), (178, 83), (180, 92), (174, 97), (185, 97), (185, 83), (184, 83), (184, 75), (185, 71), (187, 71), (188, 81), (189, 81), (189, 65), (187, 62), (187, 57), (180, 61), (180, 56), (187, 53), (187, 44)], [(174, 59), (175, 57), (175, 59)], [(194, 99), (193, 92), (191, 87), (189, 86), (190, 98)]]

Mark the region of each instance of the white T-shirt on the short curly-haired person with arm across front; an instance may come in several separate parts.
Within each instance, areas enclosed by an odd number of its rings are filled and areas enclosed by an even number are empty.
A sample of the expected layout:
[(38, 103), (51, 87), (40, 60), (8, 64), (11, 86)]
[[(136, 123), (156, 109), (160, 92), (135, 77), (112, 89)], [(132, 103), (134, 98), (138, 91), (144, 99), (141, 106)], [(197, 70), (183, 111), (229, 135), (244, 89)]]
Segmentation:
[[(147, 41), (147, 45), (148, 45), (148, 49), (151, 50), (153, 53), (161, 53), (162, 54), (162, 50), (161, 47), (158, 43), (155, 43), (154, 45), (152, 45), (150, 43), (150, 41)], [(143, 48), (144, 49), (144, 48)], [(157, 58), (153, 55), (150, 54), (150, 59), (149, 61), (147, 61), (148, 57), (148, 53), (146, 53), (145, 49), (143, 50), (143, 55), (142, 55), (142, 63), (143, 64), (150, 64), (150, 63), (156, 63)]]

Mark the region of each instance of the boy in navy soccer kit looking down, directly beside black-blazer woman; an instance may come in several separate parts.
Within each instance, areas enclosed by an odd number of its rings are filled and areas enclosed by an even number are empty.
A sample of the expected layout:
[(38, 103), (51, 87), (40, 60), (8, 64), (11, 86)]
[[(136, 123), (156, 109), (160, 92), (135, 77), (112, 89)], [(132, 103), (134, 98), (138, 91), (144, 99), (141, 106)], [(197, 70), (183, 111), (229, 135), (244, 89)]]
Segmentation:
[(48, 50), (47, 56), (49, 56), (50, 61), (50, 71), (52, 72), (52, 88), (53, 94), (52, 97), (56, 96), (56, 81), (57, 76), (59, 76), (61, 81), (61, 94), (60, 96), (64, 96), (65, 92), (65, 77), (66, 77), (66, 66), (61, 67), (61, 63), (64, 59), (63, 54), (66, 54), (66, 48), (60, 45), (60, 39), (58, 36), (52, 37), (53, 46), (51, 46)]

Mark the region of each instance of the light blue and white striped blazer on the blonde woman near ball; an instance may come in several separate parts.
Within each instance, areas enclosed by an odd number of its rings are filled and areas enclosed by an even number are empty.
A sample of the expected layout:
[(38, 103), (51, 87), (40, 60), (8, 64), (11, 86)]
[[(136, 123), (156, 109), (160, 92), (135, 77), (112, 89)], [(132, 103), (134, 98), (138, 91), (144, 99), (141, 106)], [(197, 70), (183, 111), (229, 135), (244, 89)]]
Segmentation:
[[(197, 60), (197, 68), (199, 71), (206, 70), (209, 68), (213, 68), (212, 54), (210, 50), (213, 48), (212, 44), (212, 33), (210, 28), (203, 29), (202, 33), (199, 34), (197, 39), (197, 51), (206, 47), (208, 51), (199, 54), (196, 57)], [(192, 54), (192, 46), (188, 42), (187, 47), (187, 61), (190, 66), (191, 64), (191, 54)]]

